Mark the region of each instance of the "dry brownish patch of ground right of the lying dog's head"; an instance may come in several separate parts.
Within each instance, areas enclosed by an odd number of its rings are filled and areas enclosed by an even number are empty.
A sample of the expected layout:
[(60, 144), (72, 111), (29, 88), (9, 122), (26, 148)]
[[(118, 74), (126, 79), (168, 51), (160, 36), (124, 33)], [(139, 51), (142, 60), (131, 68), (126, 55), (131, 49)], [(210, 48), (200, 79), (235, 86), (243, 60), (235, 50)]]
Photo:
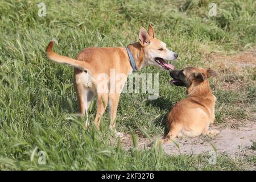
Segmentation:
[(221, 90), (240, 91), (246, 85), (255, 84), (250, 77), (256, 69), (256, 49), (249, 49), (237, 55), (224, 53), (205, 53), (205, 67), (217, 71), (217, 77), (213, 79), (213, 85)]

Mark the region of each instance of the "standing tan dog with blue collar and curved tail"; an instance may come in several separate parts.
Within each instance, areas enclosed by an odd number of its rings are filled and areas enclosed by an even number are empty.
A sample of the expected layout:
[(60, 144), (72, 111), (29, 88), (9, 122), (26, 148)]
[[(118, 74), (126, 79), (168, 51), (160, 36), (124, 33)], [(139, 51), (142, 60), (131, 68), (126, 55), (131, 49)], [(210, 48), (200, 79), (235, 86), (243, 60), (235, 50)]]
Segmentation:
[[(105, 92), (119, 85), (123, 88), (127, 76), (133, 70), (141, 70), (146, 65), (156, 65), (163, 69), (174, 69), (173, 65), (167, 64), (164, 60), (175, 60), (177, 53), (167, 49), (166, 44), (155, 38), (153, 28), (148, 25), (148, 31), (141, 27), (139, 31), (139, 42), (125, 47), (102, 47), (86, 48), (76, 59), (61, 56), (52, 51), (53, 42), (48, 44), (46, 49), (47, 57), (56, 63), (68, 64), (74, 68), (73, 82), (79, 100), (80, 113), (88, 114), (88, 107), (93, 96), (97, 97), (97, 114), (94, 119), (95, 125), (100, 127), (100, 118), (109, 104), (110, 127), (115, 127), (115, 117), (120, 92)], [(128, 54), (130, 53), (130, 55)], [(134, 61), (133, 61), (134, 60)], [(134, 64), (133, 64), (134, 63)], [(135, 68), (134, 68), (135, 67)], [(102, 74), (110, 77), (110, 71), (114, 69), (115, 74), (122, 74), (123, 79), (107, 81), (107, 89), (102, 92)], [(120, 84), (121, 83), (121, 84)], [(88, 126), (88, 117), (86, 126)]]

